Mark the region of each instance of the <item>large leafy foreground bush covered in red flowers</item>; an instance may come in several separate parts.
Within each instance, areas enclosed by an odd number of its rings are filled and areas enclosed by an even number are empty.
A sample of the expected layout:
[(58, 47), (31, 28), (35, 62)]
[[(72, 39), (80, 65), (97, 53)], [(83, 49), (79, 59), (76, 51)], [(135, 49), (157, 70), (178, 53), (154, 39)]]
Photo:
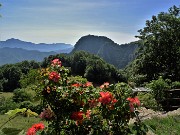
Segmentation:
[[(135, 108), (140, 102), (130, 96), (132, 89), (127, 84), (106, 82), (94, 87), (85, 79), (72, 79), (62, 65), (59, 59), (54, 59), (48, 68), (40, 71), (36, 92), (44, 105), (40, 117), (48, 122), (41, 128), (41, 134), (126, 135), (132, 132), (128, 123), (137, 116)], [(135, 127), (133, 130), (139, 132), (140, 121)], [(34, 130), (33, 126), (29, 132)]]

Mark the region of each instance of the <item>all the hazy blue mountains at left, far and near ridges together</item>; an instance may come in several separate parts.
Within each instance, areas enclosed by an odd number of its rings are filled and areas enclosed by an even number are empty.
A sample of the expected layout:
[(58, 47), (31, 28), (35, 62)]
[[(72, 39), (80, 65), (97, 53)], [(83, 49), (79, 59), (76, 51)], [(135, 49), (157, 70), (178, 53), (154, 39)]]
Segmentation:
[(35, 44), (19, 39), (0, 41), (0, 65), (12, 64), (23, 60), (42, 61), (49, 55), (69, 53), (73, 46), (65, 43)]

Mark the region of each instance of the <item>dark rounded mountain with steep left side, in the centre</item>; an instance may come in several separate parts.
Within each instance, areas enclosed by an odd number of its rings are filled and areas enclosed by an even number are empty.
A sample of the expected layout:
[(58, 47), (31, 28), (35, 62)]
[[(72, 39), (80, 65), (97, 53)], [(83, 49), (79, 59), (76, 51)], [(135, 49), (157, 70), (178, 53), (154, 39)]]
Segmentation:
[(78, 40), (72, 53), (80, 50), (87, 51), (102, 57), (117, 68), (124, 68), (135, 58), (137, 48), (138, 45), (133, 42), (119, 45), (104, 36), (87, 35)]

